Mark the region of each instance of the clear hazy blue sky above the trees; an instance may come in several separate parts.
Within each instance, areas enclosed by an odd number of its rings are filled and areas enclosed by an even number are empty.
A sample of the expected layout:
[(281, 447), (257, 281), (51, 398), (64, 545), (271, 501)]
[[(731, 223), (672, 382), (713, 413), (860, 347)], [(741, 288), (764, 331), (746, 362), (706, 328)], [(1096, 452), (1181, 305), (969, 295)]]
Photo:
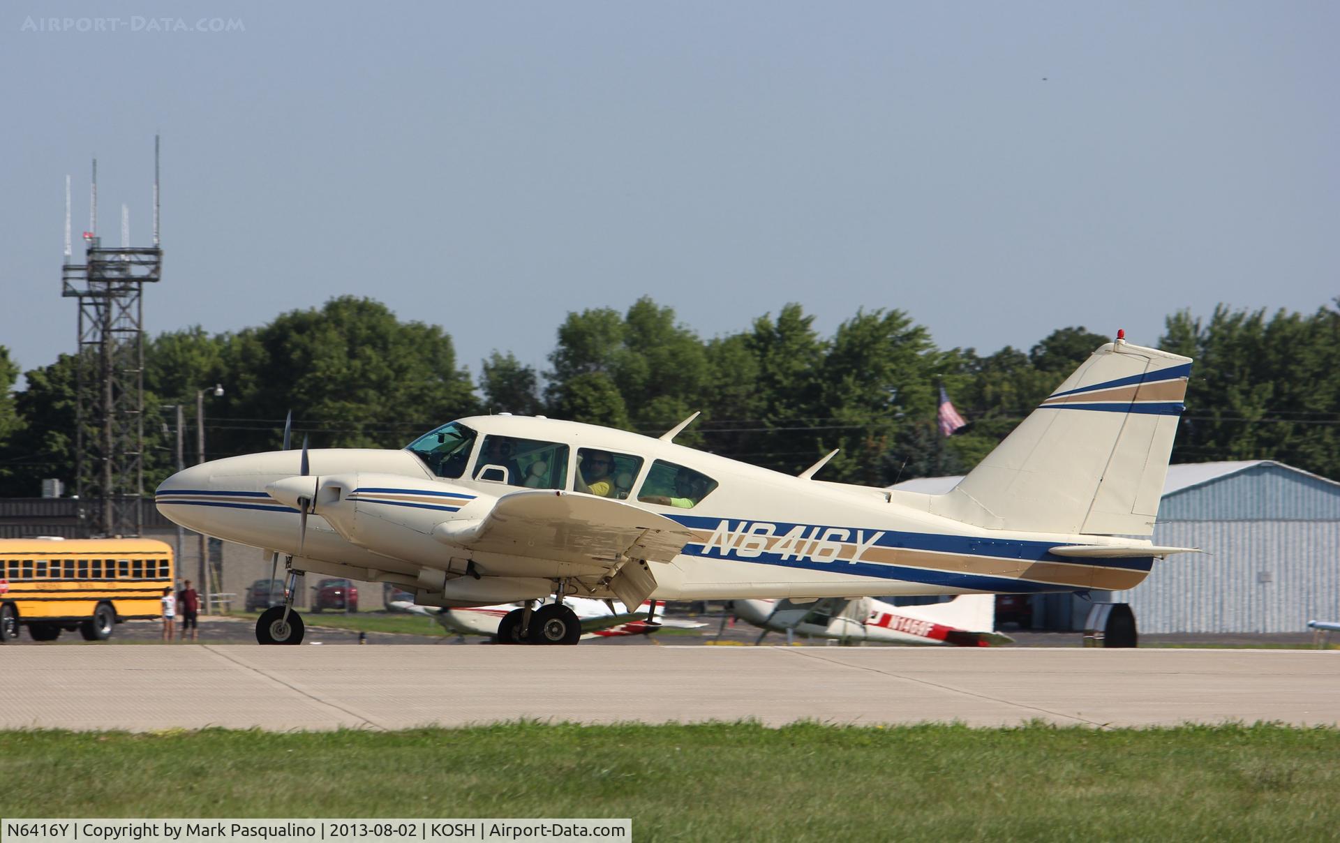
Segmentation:
[(642, 295), (704, 336), (799, 302), (981, 351), (1340, 295), (1335, 3), (117, 7), (0, 12), (25, 369), (75, 344), (66, 174), (76, 240), (96, 154), (99, 232), (125, 202), (147, 244), (155, 131), (154, 334), (355, 294), (543, 369), (568, 311)]

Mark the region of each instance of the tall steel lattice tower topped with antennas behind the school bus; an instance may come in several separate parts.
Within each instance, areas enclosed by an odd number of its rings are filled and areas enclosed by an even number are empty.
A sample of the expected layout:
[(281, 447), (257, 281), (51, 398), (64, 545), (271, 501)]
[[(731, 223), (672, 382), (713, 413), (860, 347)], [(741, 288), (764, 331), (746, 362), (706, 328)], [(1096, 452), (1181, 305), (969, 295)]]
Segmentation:
[(98, 159), (88, 190), (84, 263), (71, 264), (70, 189), (66, 188), (66, 260), (60, 295), (79, 299), (76, 355), (75, 492), (84, 536), (138, 536), (143, 528), (145, 344), (143, 285), (162, 272), (158, 247), (158, 137), (154, 137), (154, 244), (122, 245), (98, 237)]

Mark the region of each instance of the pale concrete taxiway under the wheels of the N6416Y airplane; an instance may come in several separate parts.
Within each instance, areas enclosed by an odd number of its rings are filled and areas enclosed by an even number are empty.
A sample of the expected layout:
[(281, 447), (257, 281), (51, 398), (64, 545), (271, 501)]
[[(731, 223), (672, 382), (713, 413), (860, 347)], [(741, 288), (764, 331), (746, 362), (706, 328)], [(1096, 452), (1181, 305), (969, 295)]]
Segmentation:
[(47, 646), (0, 675), (7, 729), (1340, 724), (1340, 651), (1309, 650)]

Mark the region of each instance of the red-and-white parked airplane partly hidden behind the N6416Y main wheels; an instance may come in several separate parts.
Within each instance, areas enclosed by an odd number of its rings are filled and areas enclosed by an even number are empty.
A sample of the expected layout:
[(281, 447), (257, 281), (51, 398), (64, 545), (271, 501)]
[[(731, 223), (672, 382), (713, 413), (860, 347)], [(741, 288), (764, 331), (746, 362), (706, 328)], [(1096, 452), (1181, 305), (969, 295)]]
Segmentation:
[[(657, 614), (661, 608), (651, 602), (643, 603), (635, 611), (619, 611), (614, 603), (592, 600), (591, 598), (568, 598), (563, 602), (576, 612), (582, 625), (583, 638), (618, 638), (623, 635), (650, 635), (663, 626), (675, 629), (695, 629), (706, 626), (697, 621), (681, 621), (666, 618), (665, 612)], [(524, 606), (504, 603), (503, 606), (470, 606), (465, 608), (438, 608), (430, 610), (409, 600), (393, 600), (391, 607), (414, 615), (433, 618), (442, 629), (458, 635), (489, 635), (497, 643), (525, 643), (521, 638), (521, 627), (509, 623), (508, 617)]]

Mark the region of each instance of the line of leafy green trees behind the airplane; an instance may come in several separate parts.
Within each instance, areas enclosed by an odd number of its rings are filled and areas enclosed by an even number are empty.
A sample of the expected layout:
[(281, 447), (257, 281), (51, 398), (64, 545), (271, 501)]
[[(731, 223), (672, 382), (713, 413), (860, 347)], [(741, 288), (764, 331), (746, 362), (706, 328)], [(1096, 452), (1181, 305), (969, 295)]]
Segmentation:
[[(1156, 343), (1195, 358), (1172, 458), (1272, 458), (1340, 478), (1340, 299), (1315, 314), (1172, 314)], [(969, 470), (1088, 354), (1111, 338), (1059, 328), (1028, 351), (941, 350), (900, 310), (858, 311), (829, 336), (799, 304), (738, 334), (702, 339), (649, 298), (627, 311), (568, 314), (549, 367), (509, 351), (481, 362), (476, 383), (440, 327), (399, 320), (354, 296), (281, 314), (239, 332), (194, 327), (145, 342), (145, 485), (176, 466), (184, 405), (186, 464), (196, 461), (197, 391), (206, 393), (206, 458), (280, 446), (285, 414), (314, 448), (399, 448), (452, 418), (545, 414), (658, 436), (702, 415), (677, 441), (799, 472), (840, 449), (823, 480), (887, 485)], [(0, 496), (31, 497), (40, 480), (74, 488), (71, 355), (27, 373), (0, 347)], [(939, 390), (969, 426), (945, 438)], [(296, 446), (296, 442), (295, 442)]]

